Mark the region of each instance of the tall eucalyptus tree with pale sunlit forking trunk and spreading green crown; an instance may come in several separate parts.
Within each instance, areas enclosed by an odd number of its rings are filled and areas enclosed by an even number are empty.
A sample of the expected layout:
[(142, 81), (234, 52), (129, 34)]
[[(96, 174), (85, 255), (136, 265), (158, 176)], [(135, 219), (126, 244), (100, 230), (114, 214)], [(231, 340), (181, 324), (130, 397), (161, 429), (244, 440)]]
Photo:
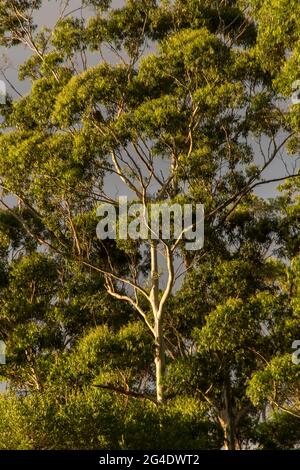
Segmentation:
[[(39, 247), (95, 271), (134, 308), (155, 347), (157, 402), (177, 276), (220, 241), (295, 137), (258, 42), (259, 2), (243, 3), (82, 1), (68, 14), (66, 2), (53, 29), (35, 26), (41, 1), (0, 3), (1, 44), (32, 52), (19, 68), (30, 92), (2, 107), (1, 184), (18, 209), (2, 203)], [(284, 169), (271, 180), (295, 175)], [(204, 204), (204, 248), (191, 252), (184, 237), (165, 240), (159, 230), (155, 240), (99, 240), (97, 207), (116, 207), (122, 193), (143, 212)]]

